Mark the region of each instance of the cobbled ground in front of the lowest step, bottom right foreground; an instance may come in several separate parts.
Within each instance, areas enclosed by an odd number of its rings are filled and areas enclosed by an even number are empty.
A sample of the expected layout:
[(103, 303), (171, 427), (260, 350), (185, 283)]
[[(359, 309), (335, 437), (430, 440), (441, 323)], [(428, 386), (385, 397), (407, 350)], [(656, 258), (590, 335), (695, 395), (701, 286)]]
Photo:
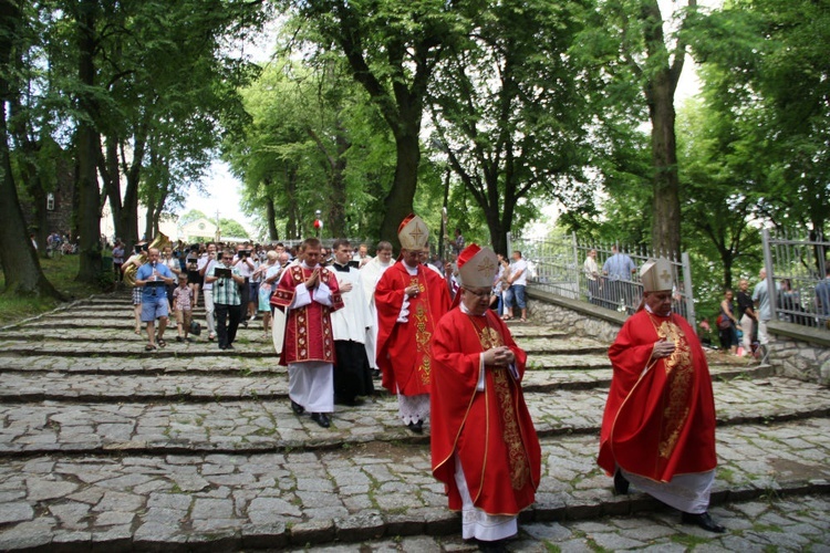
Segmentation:
[[(677, 524), (677, 517), (658, 512), (637, 517), (603, 517), (590, 522), (529, 522), (509, 543), (517, 553), (582, 553), (589, 551), (649, 551), (764, 553), (770, 551), (830, 552), (830, 501), (826, 497), (793, 497), (775, 501), (728, 503), (712, 509), (727, 526), (713, 535)], [(302, 551), (289, 549), (288, 551)], [(346, 553), (353, 545), (315, 547), (319, 553)], [(476, 551), (458, 536), (395, 536), (364, 542), (363, 553), (429, 553)]]

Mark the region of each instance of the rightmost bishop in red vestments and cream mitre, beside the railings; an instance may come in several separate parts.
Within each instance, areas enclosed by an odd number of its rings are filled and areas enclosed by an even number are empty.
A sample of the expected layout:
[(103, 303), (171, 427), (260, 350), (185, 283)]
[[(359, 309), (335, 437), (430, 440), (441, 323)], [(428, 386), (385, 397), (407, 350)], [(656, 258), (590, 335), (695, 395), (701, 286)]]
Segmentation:
[(706, 356), (694, 330), (672, 313), (672, 264), (641, 270), (643, 303), (620, 330), (609, 357), (613, 378), (598, 462), (629, 484), (679, 510), (683, 522), (710, 532), (715, 480), (715, 400)]

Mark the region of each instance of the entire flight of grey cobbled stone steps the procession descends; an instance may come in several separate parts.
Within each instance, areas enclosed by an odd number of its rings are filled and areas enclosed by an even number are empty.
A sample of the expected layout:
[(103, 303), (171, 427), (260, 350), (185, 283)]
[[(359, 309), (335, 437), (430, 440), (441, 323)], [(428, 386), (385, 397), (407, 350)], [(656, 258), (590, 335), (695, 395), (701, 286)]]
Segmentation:
[[(712, 355), (713, 514), (729, 529), (714, 536), (614, 497), (595, 466), (608, 344), (511, 328), (535, 352), (543, 477), (510, 550), (830, 551), (827, 388)], [(294, 416), (261, 332), (241, 330), (231, 355), (175, 332), (145, 354), (123, 296), (1, 331), (0, 550), (474, 549), (395, 399), (339, 407), (328, 430)]]

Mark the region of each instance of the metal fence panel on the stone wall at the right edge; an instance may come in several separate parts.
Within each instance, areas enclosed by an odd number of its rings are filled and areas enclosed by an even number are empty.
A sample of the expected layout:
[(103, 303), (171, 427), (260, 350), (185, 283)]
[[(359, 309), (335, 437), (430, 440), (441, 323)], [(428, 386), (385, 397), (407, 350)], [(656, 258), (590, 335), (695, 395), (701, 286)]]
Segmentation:
[(772, 319), (830, 330), (830, 241), (764, 230), (764, 265), (767, 270)]

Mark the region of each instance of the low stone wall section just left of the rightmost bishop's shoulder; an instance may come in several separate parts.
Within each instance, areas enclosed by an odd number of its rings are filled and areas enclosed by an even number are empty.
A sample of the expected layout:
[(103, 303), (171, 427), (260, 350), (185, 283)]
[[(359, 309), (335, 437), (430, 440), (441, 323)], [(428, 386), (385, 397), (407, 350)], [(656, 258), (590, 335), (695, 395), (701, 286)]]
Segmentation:
[(626, 315), (528, 288), (528, 316), (538, 324), (611, 344)]

